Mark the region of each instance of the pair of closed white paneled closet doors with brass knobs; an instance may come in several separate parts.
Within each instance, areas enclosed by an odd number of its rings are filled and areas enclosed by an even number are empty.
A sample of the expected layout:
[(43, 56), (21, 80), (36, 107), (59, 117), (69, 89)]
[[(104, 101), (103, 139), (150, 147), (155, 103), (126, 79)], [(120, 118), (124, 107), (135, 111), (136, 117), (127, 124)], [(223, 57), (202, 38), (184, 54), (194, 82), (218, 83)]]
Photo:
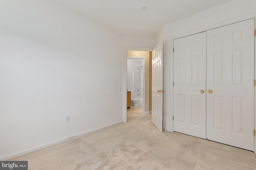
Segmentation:
[(174, 131), (254, 150), (254, 25), (174, 40)]

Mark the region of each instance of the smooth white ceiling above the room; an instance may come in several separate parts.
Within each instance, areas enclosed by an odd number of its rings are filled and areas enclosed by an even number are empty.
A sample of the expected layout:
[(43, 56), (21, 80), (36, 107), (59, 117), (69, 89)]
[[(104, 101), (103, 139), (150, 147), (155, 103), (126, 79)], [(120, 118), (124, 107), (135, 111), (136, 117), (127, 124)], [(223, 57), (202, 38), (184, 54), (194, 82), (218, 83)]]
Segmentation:
[[(168, 23), (231, 0), (52, 0), (122, 35), (156, 36)], [(143, 10), (145, 7), (145, 10)]]

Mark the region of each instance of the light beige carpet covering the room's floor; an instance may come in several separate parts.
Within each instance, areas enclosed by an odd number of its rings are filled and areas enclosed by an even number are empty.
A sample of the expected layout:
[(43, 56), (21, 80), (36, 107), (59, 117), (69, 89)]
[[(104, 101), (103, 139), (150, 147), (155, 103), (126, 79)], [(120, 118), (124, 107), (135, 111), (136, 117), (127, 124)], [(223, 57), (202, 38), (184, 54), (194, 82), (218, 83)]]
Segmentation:
[(29, 170), (250, 170), (251, 151), (164, 131), (151, 114), (128, 114), (128, 122), (108, 127), (12, 160), (28, 160)]

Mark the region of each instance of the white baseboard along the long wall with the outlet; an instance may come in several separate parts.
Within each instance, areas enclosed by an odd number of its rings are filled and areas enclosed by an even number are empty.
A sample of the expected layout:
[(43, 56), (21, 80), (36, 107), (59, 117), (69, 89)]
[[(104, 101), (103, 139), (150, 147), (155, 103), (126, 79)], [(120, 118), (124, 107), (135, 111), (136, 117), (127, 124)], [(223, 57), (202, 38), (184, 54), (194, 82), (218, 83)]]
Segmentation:
[(70, 139), (74, 139), (74, 138), (77, 138), (77, 137), (80, 137), (80, 136), (83, 136), (83, 135), (87, 135), (89, 133), (93, 133), (93, 132), (99, 131), (101, 129), (104, 129), (106, 127), (110, 127), (110, 126), (117, 125), (117, 124), (120, 124), (120, 123), (123, 123), (123, 121), (118, 121), (116, 123), (112, 123), (112, 124), (109, 124), (109, 125), (106, 125), (106, 126), (98, 127), (98, 128), (95, 128), (95, 129), (92, 129), (92, 130), (89, 130), (89, 131), (85, 131), (85, 132), (81, 132), (81, 133), (78, 133), (78, 134), (75, 134), (75, 135), (64, 137), (62, 139), (58, 139), (58, 140), (55, 140), (55, 141), (52, 141), (52, 142), (48, 142), (48, 143), (45, 143), (45, 144), (42, 144), (42, 145), (38, 145), (36, 147), (32, 147), (32, 148), (29, 148), (29, 149), (21, 150), (19, 152), (15, 152), (15, 153), (9, 154), (7, 156), (2, 156), (2, 157), (0, 157), (0, 160), (1, 161), (9, 160), (9, 159), (15, 158), (17, 156), (21, 156), (21, 155), (24, 155), (24, 154), (27, 154), (27, 153), (30, 153), (30, 152), (34, 152), (34, 151), (39, 150), (39, 149), (44, 149), (44, 148), (50, 147), (52, 145), (56, 145), (58, 143), (65, 142), (65, 141), (68, 141)]

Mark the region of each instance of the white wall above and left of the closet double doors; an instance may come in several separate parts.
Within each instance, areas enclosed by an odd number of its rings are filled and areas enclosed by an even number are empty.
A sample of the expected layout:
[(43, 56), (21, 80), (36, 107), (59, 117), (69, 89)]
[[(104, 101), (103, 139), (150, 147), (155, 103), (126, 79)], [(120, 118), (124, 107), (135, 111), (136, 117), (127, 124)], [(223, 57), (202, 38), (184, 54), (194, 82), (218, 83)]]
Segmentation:
[(226, 23), (248, 19), (256, 13), (256, 0), (233, 0), (188, 18), (165, 25), (157, 37), (164, 41), (164, 129), (172, 131), (172, 47), (173, 39), (206, 31)]

